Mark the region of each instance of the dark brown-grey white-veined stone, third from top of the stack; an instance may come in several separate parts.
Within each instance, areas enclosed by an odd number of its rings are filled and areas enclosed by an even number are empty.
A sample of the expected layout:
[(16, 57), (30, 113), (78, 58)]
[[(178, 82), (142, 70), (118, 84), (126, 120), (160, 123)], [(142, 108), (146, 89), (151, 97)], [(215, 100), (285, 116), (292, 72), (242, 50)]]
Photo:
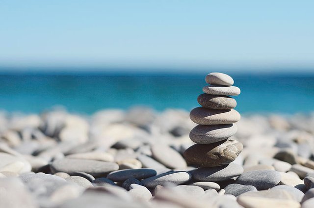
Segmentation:
[(236, 106), (235, 99), (226, 95), (201, 94), (197, 97), (197, 102), (203, 107), (210, 109), (232, 109)]

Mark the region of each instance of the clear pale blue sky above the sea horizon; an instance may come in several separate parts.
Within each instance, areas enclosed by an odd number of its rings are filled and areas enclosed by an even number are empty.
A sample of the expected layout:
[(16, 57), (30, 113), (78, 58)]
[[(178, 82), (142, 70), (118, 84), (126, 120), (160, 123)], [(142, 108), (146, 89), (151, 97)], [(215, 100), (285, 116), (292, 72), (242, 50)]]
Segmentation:
[(314, 67), (314, 0), (0, 0), (1, 66)]

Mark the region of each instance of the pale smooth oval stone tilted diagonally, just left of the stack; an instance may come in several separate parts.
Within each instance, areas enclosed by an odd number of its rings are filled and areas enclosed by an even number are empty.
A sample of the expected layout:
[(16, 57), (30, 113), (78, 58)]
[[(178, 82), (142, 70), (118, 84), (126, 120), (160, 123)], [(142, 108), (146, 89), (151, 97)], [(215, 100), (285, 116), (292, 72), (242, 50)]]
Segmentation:
[(174, 169), (186, 167), (186, 162), (183, 156), (167, 145), (154, 144), (151, 146), (151, 150), (152, 156), (168, 168)]

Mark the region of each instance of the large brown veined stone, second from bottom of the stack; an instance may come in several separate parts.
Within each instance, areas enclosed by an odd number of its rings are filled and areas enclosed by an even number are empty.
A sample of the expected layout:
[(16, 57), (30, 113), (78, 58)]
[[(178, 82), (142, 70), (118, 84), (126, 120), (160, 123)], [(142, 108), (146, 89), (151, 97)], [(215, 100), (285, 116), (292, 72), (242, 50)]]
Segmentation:
[(195, 144), (184, 152), (188, 163), (215, 167), (229, 164), (241, 153), (243, 145), (233, 139), (227, 139), (212, 144)]

